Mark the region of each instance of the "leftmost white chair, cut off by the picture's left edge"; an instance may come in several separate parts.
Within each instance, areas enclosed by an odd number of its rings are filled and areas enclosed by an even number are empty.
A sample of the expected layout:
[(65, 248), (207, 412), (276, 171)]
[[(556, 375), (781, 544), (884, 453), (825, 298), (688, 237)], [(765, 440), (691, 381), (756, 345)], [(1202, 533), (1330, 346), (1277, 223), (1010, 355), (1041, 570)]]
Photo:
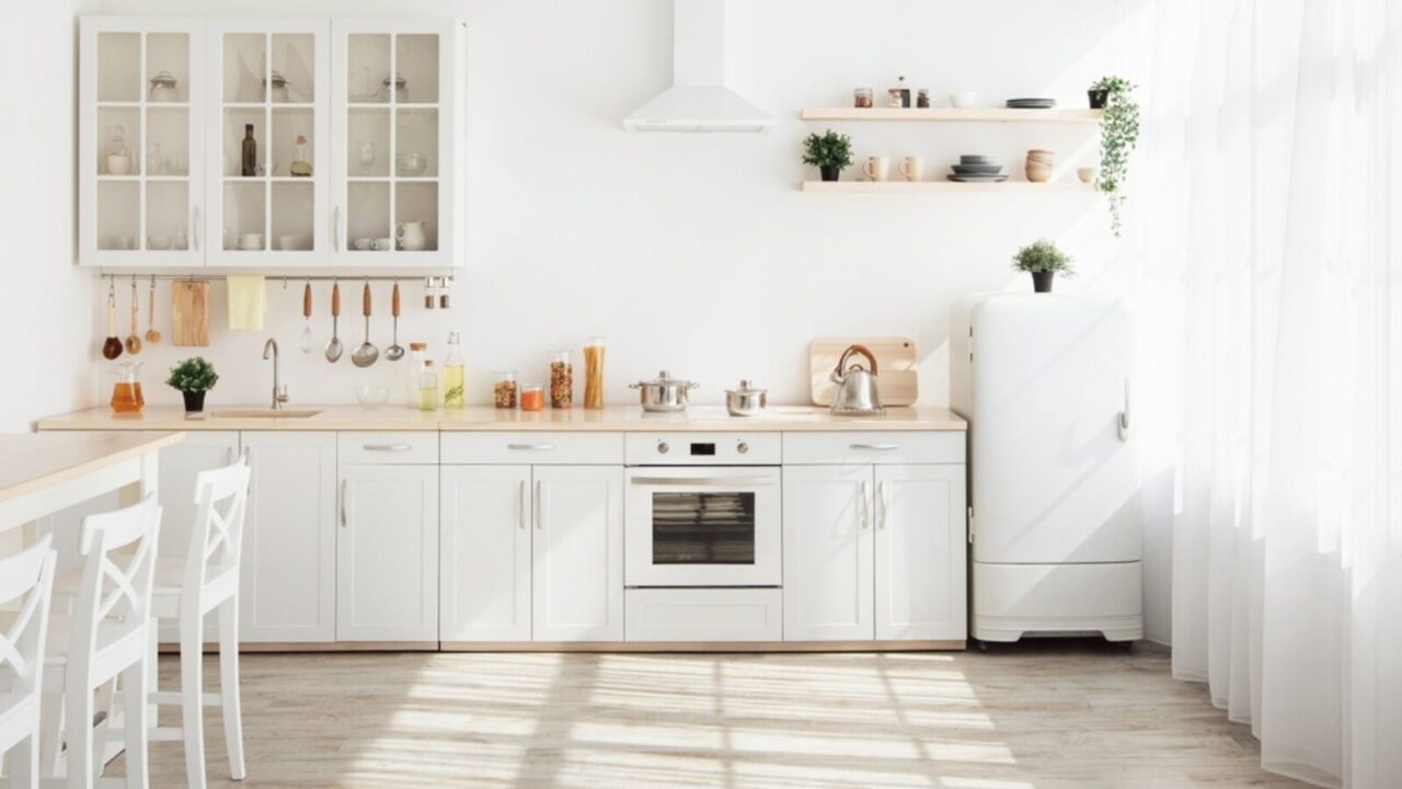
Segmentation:
[(39, 785), (39, 698), (45, 637), (57, 556), (45, 535), (17, 556), (0, 559), (0, 605), (20, 604), (0, 632), (0, 757), (10, 754), (10, 786)]

